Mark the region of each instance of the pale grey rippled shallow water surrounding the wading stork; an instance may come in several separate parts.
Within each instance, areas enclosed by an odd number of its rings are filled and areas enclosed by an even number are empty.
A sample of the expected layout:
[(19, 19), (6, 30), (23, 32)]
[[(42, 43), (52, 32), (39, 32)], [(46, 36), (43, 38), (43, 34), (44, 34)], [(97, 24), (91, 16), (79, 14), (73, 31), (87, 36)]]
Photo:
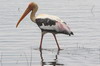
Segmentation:
[(39, 51), (41, 32), (29, 15), (15, 27), (32, 0), (0, 0), (0, 65), (1, 66), (99, 66), (100, 65), (100, 2), (99, 0), (33, 0), (37, 14), (59, 16), (74, 36), (47, 34)]

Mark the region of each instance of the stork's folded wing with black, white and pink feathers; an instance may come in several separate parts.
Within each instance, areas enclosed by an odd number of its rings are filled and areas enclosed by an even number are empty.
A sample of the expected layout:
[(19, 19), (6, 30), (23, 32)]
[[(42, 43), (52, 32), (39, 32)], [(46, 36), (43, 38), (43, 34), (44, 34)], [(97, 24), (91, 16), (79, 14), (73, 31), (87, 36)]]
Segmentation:
[(66, 34), (69, 34), (71, 32), (69, 27), (65, 23), (52, 20), (50, 18), (37, 18), (36, 23), (41, 30)]

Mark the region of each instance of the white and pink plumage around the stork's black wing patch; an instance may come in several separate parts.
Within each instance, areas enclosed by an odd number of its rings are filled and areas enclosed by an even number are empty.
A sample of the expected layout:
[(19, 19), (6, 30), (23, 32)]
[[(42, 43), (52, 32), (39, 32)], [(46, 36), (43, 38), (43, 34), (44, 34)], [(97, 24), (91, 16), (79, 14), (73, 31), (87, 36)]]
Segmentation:
[[(61, 20), (59, 17), (57, 16), (53, 16), (53, 15), (47, 15), (47, 14), (40, 14), (36, 17), (36, 19), (46, 19), (49, 18), (51, 20), (55, 20), (56, 24), (55, 25), (44, 25), (42, 24), (42, 26), (40, 26), (41, 29), (45, 29), (45, 30), (55, 30), (57, 32), (64, 32), (67, 31), (68, 33), (71, 33), (70, 29), (68, 28), (67, 24), (65, 25), (65, 23), (63, 23), (63, 20)], [(47, 21), (48, 22), (48, 21)]]

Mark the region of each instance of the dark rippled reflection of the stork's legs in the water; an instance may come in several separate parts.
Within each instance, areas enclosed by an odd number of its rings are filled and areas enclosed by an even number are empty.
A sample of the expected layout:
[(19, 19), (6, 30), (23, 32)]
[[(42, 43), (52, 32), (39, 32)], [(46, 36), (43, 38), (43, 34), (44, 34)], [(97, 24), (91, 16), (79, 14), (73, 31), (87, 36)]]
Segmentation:
[(59, 55), (59, 52), (60, 52), (60, 50), (57, 51), (57, 54), (55, 55), (55, 58), (53, 59), (53, 61), (48, 62), (48, 61), (44, 61), (45, 58), (43, 57), (42, 50), (40, 50), (41, 66), (45, 66), (45, 65), (64, 66), (64, 64), (58, 63), (58, 55)]

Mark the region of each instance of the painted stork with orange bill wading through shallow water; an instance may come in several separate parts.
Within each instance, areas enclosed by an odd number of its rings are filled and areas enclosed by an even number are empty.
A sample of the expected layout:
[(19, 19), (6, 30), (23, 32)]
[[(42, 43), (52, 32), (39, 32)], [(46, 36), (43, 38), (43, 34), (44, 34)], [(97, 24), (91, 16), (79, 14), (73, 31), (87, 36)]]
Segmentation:
[(30, 2), (25, 12), (22, 14), (21, 18), (19, 19), (18, 23), (16, 24), (16, 28), (18, 27), (19, 23), (24, 19), (24, 17), (31, 12), (30, 19), (35, 22), (38, 27), (41, 29), (41, 41), (40, 41), (40, 49), (42, 49), (42, 40), (43, 36), (46, 33), (52, 33), (57, 47), (60, 50), (56, 34), (66, 34), (66, 35), (73, 35), (73, 32), (70, 30), (68, 25), (63, 22), (59, 17), (47, 14), (39, 14), (35, 16), (38, 10), (38, 5), (34, 2)]

